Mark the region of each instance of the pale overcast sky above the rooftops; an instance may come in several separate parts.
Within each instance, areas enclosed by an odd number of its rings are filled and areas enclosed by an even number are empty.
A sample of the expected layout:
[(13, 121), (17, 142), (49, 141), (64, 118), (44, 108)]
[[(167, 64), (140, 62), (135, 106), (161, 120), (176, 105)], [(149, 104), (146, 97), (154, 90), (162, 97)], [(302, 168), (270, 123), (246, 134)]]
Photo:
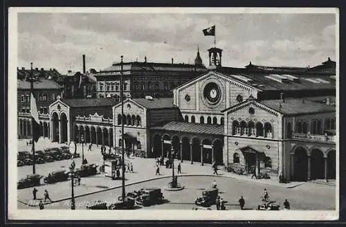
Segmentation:
[(213, 37), (202, 30), (216, 26), (223, 66), (248, 62), (268, 66), (316, 66), (335, 60), (332, 14), (18, 14), (18, 66), (55, 68), (60, 73), (105, 69), (112, 62), (192, 63), (197, 45), (208, 65)]

